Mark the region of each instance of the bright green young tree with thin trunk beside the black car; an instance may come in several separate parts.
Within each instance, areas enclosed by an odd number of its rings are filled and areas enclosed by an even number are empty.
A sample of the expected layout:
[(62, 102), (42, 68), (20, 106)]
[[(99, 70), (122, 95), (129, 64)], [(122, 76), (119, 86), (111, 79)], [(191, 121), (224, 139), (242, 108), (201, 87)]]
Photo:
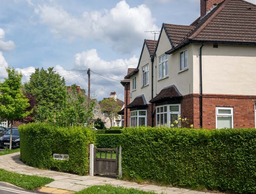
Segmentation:
[(30, 104), (21, 90), (22, 73), (10, 67), (6, 68), (6, 72), (8, 73), (8, 78), (5, 78), (3, 83), (0, 82), (0, 115), (1, 120), (8, 120), (8, 125), (11, 125), (9, 146), (11, 150), (13, 120), (23, 119), (31, 111), (26, 111)]

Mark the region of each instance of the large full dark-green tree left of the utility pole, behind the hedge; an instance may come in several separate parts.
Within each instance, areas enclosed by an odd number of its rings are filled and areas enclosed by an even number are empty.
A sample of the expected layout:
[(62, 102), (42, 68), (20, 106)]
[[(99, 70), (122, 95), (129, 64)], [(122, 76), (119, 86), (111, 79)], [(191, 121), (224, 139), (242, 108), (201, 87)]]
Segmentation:
[(34, 118), (39, 122), (53, 122), (58, 112), (67, 100), (65, 79), (53, 68), (39, 70), (30, 75), (29, 82), (24, 84), (26, 93), (35, 95)]

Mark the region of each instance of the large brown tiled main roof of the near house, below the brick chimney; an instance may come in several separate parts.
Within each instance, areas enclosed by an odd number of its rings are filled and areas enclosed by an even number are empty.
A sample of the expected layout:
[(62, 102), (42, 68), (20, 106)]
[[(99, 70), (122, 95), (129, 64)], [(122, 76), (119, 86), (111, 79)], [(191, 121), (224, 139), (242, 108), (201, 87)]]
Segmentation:
[(244, 0), (224, 0), (190, 26), (164, 23), (163, 29), (172, 46), (167, 54), (192, 42), (256, 45), (256, 5)]

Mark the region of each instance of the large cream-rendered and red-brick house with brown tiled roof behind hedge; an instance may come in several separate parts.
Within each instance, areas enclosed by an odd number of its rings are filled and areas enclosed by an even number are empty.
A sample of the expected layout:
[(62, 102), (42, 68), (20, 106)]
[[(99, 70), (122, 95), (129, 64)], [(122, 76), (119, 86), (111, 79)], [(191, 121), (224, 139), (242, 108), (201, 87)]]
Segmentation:
[(158, 41), (144, 41), (121, 81), (124, 123), (171, 126), (180, 115), (194, 128), (255, 128), (254, 65), (256, 5), (201, 0), (191, 25), (163, 23)]

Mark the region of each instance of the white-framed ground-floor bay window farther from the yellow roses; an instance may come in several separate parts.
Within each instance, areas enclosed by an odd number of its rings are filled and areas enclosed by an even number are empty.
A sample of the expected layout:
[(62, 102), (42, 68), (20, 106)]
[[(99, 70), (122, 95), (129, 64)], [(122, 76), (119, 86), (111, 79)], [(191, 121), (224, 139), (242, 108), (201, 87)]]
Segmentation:
[(131, 111), (130, 126), (147, 126), (147, 111), (135, 110)]

